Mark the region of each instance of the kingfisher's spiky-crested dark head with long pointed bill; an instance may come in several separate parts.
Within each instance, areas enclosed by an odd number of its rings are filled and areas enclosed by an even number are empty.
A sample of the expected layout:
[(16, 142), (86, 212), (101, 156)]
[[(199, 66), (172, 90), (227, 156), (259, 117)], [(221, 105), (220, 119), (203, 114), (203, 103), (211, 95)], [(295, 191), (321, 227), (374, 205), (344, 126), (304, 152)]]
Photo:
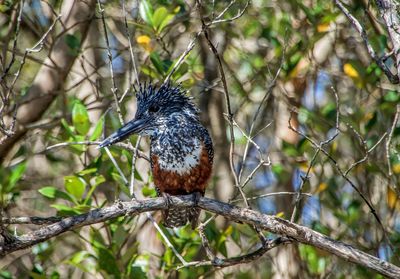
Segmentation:
[(136, 99), (135, 118), (102, 141), (99, 148), (122, 141), (131, 134), (154, 136), (167, 129), (177, 114), (198, 119), (198, 109), (179, 86), (163, 84), (157, 88), (144, 85), (137, 92)]

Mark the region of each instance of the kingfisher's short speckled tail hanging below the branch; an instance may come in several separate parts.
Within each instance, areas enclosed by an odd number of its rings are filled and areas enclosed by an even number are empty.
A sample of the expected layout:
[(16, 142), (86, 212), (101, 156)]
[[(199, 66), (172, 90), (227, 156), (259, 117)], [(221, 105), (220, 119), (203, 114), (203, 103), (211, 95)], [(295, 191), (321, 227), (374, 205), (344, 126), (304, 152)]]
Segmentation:
[(200, 216), (200, 208), (197, 207), (182, 207), (170, 208), (162, 212), (164, 226), (168, 228), (176, 228), (186, 225), (190, 222), (192, 229), (195, 229)]

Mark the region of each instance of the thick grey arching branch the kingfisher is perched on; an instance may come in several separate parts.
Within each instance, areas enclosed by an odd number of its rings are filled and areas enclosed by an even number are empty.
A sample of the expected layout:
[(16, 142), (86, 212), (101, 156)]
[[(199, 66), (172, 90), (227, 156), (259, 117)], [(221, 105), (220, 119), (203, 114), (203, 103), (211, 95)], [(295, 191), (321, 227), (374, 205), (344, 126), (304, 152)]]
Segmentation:
[[(192, 196), (187, 195), (171, 197), (169, 206), (185, 207), (195, 205)], [(209, 198), (201, 198), (197, 206), (209, 212), (222, 215), (232, 221), (257, 226), (274, 234), (287, 236), (300, 243), (318, 247), (331, 254), (335, 254), (341, 259), (370, 268), (387, 277), (400, 278), (399, 267), (362, 252), (348, 244), (335, 241), (307, 227), (291, 223), (275, 216), (261, 214), (254, 210), (240, 208)], [(137, 215), (146, 211), (166, 208), (167, 204), (163, 198), (115, 203), (109, 207), (95, 209), (86, 214), (67, 217), (33, 232), (6, 239), (3, 243), (0, 243), (0, 255), (4, 256), (13, 251), (28, 248), (63, 232), (74, 230), (82, 226), (104, 222), (120, 216)]]

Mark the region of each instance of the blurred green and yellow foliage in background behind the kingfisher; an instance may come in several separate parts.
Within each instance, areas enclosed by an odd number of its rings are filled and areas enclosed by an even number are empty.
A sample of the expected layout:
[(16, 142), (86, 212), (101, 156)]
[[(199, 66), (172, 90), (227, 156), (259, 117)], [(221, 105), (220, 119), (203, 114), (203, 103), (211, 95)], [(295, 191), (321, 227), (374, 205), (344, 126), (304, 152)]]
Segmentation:
[[(205, 43), (202, 36), (196, 40), (195, 34), (202, 27), (195, 3), (139, 2), (139, 6), (135, 6), (136, 1), (126, 1), (126, 8), (129, 39), (141, 81), (163, 82), (193, 39), (195, 47), (171, 79), (181, 83), (184, 89), (190, 89), (196, 102), (201, 102), (211, 89), (216, 88), (213, 94), (219, 94), (217, 82), (206, 80), (207, 73), (215, 69), (208, 69), (204, 61), (215, 57), (207, 47), (201, 47)], [(363, 22), (375, 51), (380, 55), (389, 52), (390, 43), (384, 27), (377, 27), (380, 21), (376, 7), (366, 1), (353, 2), (348, 8)], [(271, 165), (260, 168), (253, 177), (252, 171), (259, 159), (257, 148), (250, 144), (247, 161), (241, 164), (248, 140), (240, 132), (235, 134), (235, 164), (243, 167), (244, 177), (251, 175), (253, 178), (245, 187), (248, 197), (288, 188), (295, 191), (309, 172), (310, 180), (302, 191), (312, 197), (300, 203), (297, 222), (399, 265), (395, 255), (399, 255), (400, 241), (400, 126), (398, 123), (393, 126), (393, 119), (400, 93), (371, 62), (359, 35), (332, 1), (254, 0), (242, 15), (246, 1), (202, 3), (206, 22), (221, 20), (210, 24), (209, 29), (222, 52), (235, 120), (246, 132), (254, 126), (253, 140), (262, 153), (271, 158)], [(13, 37), (9, 34), (14, 29), (10, 26), (13, 26), (13, 13), (18, 5), (19, 1), (0, 1), (0, 46), (3, 49), (12, 49)], [(59, 10), (61, 1), (26, 1), (17, 44), (19, 53), (34, 45), (51, 24), (54, 15), (49, 15), (47, 5)], [(122, 114), (131, 116), (135, 78), (121, 3), (107, 1), (104, 9), (118, 94), (119, 97), (124, 94)], [(367, 15), (366, 10), (373, 16)], [(240, 16), (231, 20), (237, 15)], [(57, 28), (60, 32), (61, 27)], [(78, 74), (84, 78), (76, 84), (79, 78), (71, 74), (64, 94), (43, 117), (43, 126), (32, 128), (29, 136), (4, 160), (0, 168), (3, 215), (70, 216), (129, 198), (129, 186), (107, 154), (76, 143), (98, 141), (120, 127), (110, 90), (102, 30), (97, 20), (92, 30), (95, 36), (91, 36), (87, 48), (81, 47), (80, 34), (65, 37), (68, 51), (79, 59), (76, 64), (88, 60), (87, 69)], [(90, 55), (94, 58), (88, 58)], [(7, 52), (7, 61), (10, 56)], [(34, 57), (42, 61), (45, 56), (46, 51), (43, 51)], [(17, 55), (16, 60), (20, 59)], [(392, 57), (386, 63), (395, 64)], [(92, 74), (89, 74), (90, 67), (95, 68)], [(5, 77), (8, 82), (18, 68), (18, 63), (11, 65)], [(15, 91), (19, 92), (16, 103), (29, 90), (39, 68), (36, 60), (26, 61), (15, 85)], [(280, 68), (277, 84), (263, 103), (266, 88)], [(91, 80), (91, 75), (96, 78)], [(89, 87), (83, 85), (86, 80), (91, 80)], [(279, 124), (283, 118), (278, 114), (282, 105), (287, 106), (286, 110), (294, 108), (297, 128), (316, 143), (335, 133), (339, 111), (339, 134), (324, 146), (334, 161), (322, 152), (314, 158), (316, 147), (301, 136), (293, 142), (278, 139), (279, 130), (286, 129), (288, 123), (285, 120), (284, 124)], [(252, 121), (259, 106), (261, 116)], [(387, 149), (389, 134), (391, 142)], [(137, 136), (129, 139), (134, 146), (137, 140)], [(59, 143), (65, 145), (43, 151)], [(145, 153), (148, 151), (145, 140), (140, 146)], [(130, 178), (132, 154), (120, 147), (111, 147), (110, 152), (125, 176)], [(134, 172), (135, 191), (140, 197), (154, 197), (148, 163), (140, 158), (138, 161), (141, 165), (140, 171)], [(356, 165), (349, 169), (352, 164)], [(372, 201), (391, 243), (365, 202), (337, 168), (343, 173), (349, 169), (347, 177)], [(389, 175), (389, 168), (392, 175)], [(211, 183), (207, 196), (212, 196), (218, 187), (227, 187), (219, 185), (218, 179), (215, 177)], [(264, 213), (290, 219), (293, 199), (290, 197), (287, 202), (275, 195), (254, 199), (251, 205)], [(156, 214), (159, 219), (158, 216)], [(207, 213), (206, 217), (211, 216)], [(13, 231), (14, 226), (9, 229)], [(197, 231), (189, 226), (162, 229), (186, 261), (206, 258)], [(22, 234), (26, 228), (16, 226), (15, 231)], [(224, 223), (217, 218), (207, 224), (205, 232), (211, 247), (221, 257), (243, 255), (258, 245), (257, 235), (244, 224)], [(267, 237), (273, 236), (267, 234)], [(2, 265), (5, 268), (0, 271), (0, 278), (208, 278), (216, 276), (216, 272), (226, 278), (270, 278), (276, 272), (273, 251), (270, 257), (257, 262), (221, 271), (209, 266), (176, 270), (181, 265), (179, 259), (161, 243), (160, 235), (143, 217), (116, 218), (36, 245), (29, 255), (18, 256)], [(299, 245), (297, 249), (299, 265), (309, 277), (381, 278), (317, 248)]]

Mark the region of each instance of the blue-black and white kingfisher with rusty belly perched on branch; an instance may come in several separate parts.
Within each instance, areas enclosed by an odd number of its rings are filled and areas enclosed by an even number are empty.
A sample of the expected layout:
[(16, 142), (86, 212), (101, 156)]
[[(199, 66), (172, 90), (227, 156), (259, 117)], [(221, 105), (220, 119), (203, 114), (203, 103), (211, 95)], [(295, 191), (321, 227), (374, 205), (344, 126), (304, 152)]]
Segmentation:
[[(102, 141), (110, 146), (131, 134), (150, 137), (150, 165), (158, 196), (204, 196), (212, 172), (214, 149), (201, 124), (199, 109), (180, 86), (141, 85), (135, 117)], [(169, 208), (162, 212), (165, 227), (198, 224), (200, 209)]]

